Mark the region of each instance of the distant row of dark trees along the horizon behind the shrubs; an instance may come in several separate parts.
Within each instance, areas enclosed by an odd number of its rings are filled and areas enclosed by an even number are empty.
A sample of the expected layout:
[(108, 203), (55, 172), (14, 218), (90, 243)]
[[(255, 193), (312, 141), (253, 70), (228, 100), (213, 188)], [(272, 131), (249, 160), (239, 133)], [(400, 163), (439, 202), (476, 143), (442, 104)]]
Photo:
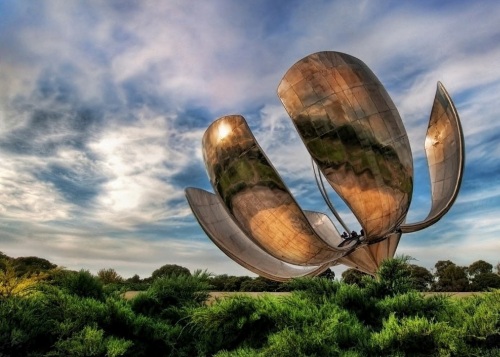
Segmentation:
[[(495, 267), (492, 264), (478, 260), (469, 266), (459, 266), (450, 260), (438, 261), (432, 272), (428, 269), (411, 264), (411, 258), (405, 257), (406, 267), (409, 270), (412, 288), (421, 292), (473, 292), (500, 289), (500, 263)], [(7, 274), (6, 274), (7, 273)], [(0, 295), (9, 294), (9, 290), (22, 289), (16, 281), (24, 285), (41, 280), (62, 279), (76, 271), (58, 267), (56, 264), (39, 257), (12, 258), (0, 252), (0, 274), (4, 282), (0, 288)], [(90, 274), (89, 272), (86, 272)], [(139, 275), (122, 278), (114, 269), (106, 268), (97, 272), (97, 280), (108, 291), (146, 290), (151, 283), (160, 277), (170, 275), (191, 275), (189, 269), (176, 265), (165, 264), (153, 271), (151, 276), (141, 279)], [(10, 276), (10, 282), (7, 277)], [(333, 280), (335, 273), (327, 269), (319, 277)], [(355, 269), (347, 269), (342, 273), (340, 280), (347, 284), (362, 284), (363, 279), (370, 277)], [(272, 281), (263, 277), (231, 276), (227, 274), (209, 275), (211, 291), (241, 291), (241, 292), (275, 292), (290, 291), (290, 284)], [(17, 286), (17, 287), (16, 287)]]

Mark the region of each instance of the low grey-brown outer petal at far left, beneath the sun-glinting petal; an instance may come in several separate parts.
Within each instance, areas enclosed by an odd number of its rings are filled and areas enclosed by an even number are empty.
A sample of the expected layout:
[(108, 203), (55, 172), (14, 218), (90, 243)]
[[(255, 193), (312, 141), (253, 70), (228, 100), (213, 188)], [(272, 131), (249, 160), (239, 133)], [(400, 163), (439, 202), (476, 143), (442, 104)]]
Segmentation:
[(186, 188), (186, 198), (196, 219), (208, 237), (228, 257), (244, 268), (277, 281), (300, 276), (314, 276), (330, 266), (294, 266), (284, 263), (259, 248), (240, 229), (213, 193)]

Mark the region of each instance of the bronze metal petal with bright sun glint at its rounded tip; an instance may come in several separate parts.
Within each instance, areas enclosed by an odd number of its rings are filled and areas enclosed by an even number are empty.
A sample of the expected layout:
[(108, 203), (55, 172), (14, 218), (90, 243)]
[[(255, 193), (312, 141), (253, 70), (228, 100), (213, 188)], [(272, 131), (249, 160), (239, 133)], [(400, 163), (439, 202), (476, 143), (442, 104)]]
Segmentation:
[(228, 213), (264, 251), (296, 265), (321, 265), (343, 255), (314, 232), (242, 116), (214, 121), (203, 136), (203, 154)]

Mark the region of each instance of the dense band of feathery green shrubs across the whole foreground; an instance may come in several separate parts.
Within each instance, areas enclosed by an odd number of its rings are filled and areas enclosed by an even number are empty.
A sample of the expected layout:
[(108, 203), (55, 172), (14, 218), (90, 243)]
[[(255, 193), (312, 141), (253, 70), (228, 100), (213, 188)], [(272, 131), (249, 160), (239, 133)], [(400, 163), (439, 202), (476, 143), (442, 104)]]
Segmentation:
[[(122, 279), (112, 269), (94, 276), (4, 257), (0, 356), (500, 355), (500, 290), (425, 297), (405, 259), (353, 284), (294, 279), (281, 284), (292, 291), (285, 297), (237, 295), (209, 306), (210, 274), (172, 265), (155, 272)], [(116, 287), (129, 284), (146, 288), (126, 300)]]

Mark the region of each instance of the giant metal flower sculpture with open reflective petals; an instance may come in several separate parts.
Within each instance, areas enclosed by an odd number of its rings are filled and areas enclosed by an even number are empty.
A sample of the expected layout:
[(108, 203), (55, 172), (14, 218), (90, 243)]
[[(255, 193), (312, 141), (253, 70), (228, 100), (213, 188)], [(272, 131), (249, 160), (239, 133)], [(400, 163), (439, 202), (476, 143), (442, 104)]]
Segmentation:
[(358, 219), (363, 233), (342, 237), (323, 213), (302, 211), (255, 140), (245, 119), (217, 119), (203, 136), (203, 156), (215, 194), (187, 188), (201, 227), (230, 258), (274, 280), (320, 274), (345, 264), (374, 274), (394, 256), (402, 233), (437, 222), (458, 194), (464, 140), (457, 111), (441, 83), (425, 151), (432, 206), (422, 222), (405, 223), (413, 192), (413, 160), (403, 122), (373, 72), (359, 59), (318, 52), (295, 63), (278, 96), (322, 176)]

